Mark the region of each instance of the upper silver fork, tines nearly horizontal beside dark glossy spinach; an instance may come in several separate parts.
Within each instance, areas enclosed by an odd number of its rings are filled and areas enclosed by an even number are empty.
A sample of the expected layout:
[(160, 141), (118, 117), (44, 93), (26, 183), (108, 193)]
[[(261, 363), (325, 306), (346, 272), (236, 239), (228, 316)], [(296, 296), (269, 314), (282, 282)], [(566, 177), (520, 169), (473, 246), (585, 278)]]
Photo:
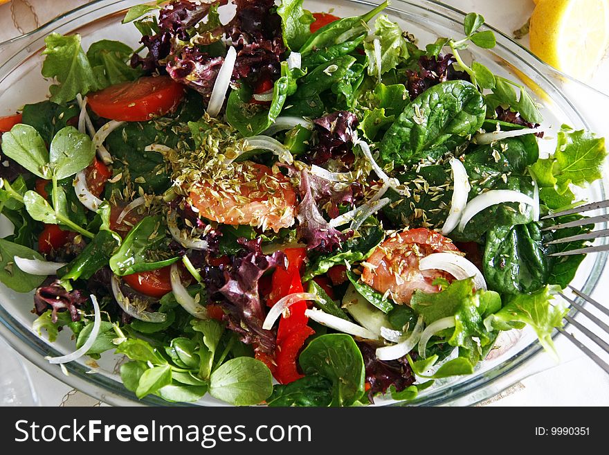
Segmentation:
[[(569, 210), (551, 213), (545, 217), (542, 217), (542, 220), (549, 220), (551, 218), (561, 217), (565, 215), (576, 215), (580, 213), (585, 213), (593, 210), (599, 210), (600, 208), (609, 207), (609, 200), (601, 201), (601, 202), (592, 202), (591, 204), (585, 204), (583, 206), (579, 206), (576, 208), (570, 208)], [(556, 231), (558, 229), (567, 229), (572, 227), (586, 226), (588, 224), (596, 224), (602, 222), (609, 221), (609, 213), (604, 213), (603, 215), (597, 215), (594, 217), (584, 217), (581, 220), (573, 220), (570, 222), (564, 222), (560, 224), (554, 224), (554, 226), (547, 226), (542, 229), (542, 231)], [(598, 231), (587, 232), (578, 235), (570, 235), (569, 237), (560, 238), (556, 240), (552, 240), (551, 242), (547, 242), (547, 245), (556, 245), (568, 242), (579, 242), (582, 240), (594, 240), (597, 238), (609, 237), (609, 229), (599, 229)], [(559, 251), (558, 253), (552, 253), (548, 256), (571, 256), (573, 254), (585, 254), (585, 253), (598, 253), (599, 251), (609, 251), (609, 244), (595, 245), (593, 247), (583, 247), (578, 249)]]

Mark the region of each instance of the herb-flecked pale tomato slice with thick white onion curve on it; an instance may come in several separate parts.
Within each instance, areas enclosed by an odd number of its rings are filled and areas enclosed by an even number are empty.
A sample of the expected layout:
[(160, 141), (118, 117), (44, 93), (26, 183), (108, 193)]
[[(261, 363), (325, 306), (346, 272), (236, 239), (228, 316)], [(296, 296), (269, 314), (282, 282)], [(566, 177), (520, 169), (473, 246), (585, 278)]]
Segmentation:
[(439, 292), (436, 278), (451, 280), (451, 274), (440, 270), (419, 270), (419, 259), (431, 253), (459, 251), (444, 235), (419, 228), (396, 233), (374, 249), (364, 267), (362, 280), (376, 291), (390, 296), (396, 303), (410, 303), (415, 290)]

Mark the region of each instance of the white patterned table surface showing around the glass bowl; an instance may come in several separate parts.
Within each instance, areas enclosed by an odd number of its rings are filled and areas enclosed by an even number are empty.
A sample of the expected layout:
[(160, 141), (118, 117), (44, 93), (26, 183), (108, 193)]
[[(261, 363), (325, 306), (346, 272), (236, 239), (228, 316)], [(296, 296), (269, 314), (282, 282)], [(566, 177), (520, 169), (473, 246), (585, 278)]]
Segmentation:
[[(487, 19), (487, 23), (511, 35), (512, 30), (520, 28), (531, 15), (534, 8), (532, 0), (445, 0), (446, 3), (464, 10), (475, 11)], [(69, 0), (57, 2), (53, 0), (13, 0), (10, 5), (0, 6), (0, 42), (4, 39), (19, 35), (15, 24), (26, 31), (33, 28), (38, 21), (44, 24), (58, 11), (57, 8), (68, 10), (78, 6), (83, 1)], [(57, 3), (60, 3), (59, 6)], [(37, 13), (33, 17), (30, 6)], [(11, 12), (13, 14), (11, 14)], [(522, 39), (522, 44), (528, 45), (528, 38)], [(609, 80), (609, 59), (603, 61), (597, 73), (589, 81), (592, 86), (608, 93), (606, 81)], [(603, 113), (606, 116), (606, 113)], [(594, 296), (608, 295), (609, 272), (601, 278)], [(574, 348), (569, 341), (560, 337), (556, 342), (561, 354), (561, 363), (552, 368), (531, 375), (521, 380), (509, 389), (484, 402), (487, 406), (608, 406), (609, 405), (609, 376), (603, 373), (588, 357)], [(9, 355), (10, 350), (5, 344), (0, 344), (0, 359)], [(40, 370), (26, 359), (23, 359), (33, 386), (37, 391), (39, 403), (43, 406), (98, 406), (100, 402), (79, 391), (71, 389), (62, 382)]]

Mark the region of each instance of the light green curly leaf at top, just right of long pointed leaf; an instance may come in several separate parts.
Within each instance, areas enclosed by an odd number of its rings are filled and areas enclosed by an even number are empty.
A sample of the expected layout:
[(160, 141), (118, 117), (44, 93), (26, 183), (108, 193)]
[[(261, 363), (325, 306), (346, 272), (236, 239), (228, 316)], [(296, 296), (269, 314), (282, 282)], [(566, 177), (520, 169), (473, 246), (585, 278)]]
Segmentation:
[[(401, 62), (408, 60), (408, 41), (403, 36), (403, 31), (398, 24), (389, 20), (386, 15), (379, 16), (374, 21), (375, 39), (381, 45), (381, 62), (376, 61), (374, 41), (364, 43), (364, 51), (368, 57), (368, 75), (376, 76), (384, 74), (390, 69), (396, 68)], [(381, 64), (381, 69), (377, 67)]]

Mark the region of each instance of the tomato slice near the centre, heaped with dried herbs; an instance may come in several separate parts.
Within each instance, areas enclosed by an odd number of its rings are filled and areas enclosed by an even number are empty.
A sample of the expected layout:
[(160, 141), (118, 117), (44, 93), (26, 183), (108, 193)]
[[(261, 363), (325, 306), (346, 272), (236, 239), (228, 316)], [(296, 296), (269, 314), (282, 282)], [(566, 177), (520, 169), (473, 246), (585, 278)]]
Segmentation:
[(224, 181), (202, 181), (190, 193), (199, 215), (223, 224), (246, 224), (262, 229), (294, 223), (296, 193), (281, 172), (252, 161), (235, 163), (235, 174)]

